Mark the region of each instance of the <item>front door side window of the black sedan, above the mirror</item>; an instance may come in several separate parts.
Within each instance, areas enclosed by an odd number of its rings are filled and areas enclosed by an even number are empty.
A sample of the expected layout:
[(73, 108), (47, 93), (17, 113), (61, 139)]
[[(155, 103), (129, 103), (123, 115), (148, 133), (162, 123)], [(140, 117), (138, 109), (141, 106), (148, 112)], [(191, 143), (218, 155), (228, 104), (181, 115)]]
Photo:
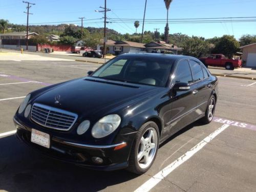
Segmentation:
[(179, 62), (176, 70), (175, 82), (185, 82), (185, 83), (193, 82), (191, 70), (187, 60), (182, 60)]

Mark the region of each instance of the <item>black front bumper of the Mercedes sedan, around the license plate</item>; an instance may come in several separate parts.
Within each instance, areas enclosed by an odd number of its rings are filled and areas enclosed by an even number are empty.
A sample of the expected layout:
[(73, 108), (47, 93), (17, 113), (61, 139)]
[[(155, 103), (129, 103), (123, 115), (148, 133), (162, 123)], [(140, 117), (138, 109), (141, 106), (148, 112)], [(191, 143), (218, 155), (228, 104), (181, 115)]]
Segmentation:
[[(128, 142), (113, 145), (89, 145), (70, 142), (50, 135), (51, 145), (50, 148), (46, 148), (31, 142), (31, 127), (20, 122), (16, 117), (13, 121), (17, 129), (17, 138), (48, 157), (98, 170), (116, 170), (128, 166), (127, 161), (131, 150)], [(116, 150), (119, 146), (124, 147)], [(103, 162), (97, 164), (92, 157), (100, 157)]]

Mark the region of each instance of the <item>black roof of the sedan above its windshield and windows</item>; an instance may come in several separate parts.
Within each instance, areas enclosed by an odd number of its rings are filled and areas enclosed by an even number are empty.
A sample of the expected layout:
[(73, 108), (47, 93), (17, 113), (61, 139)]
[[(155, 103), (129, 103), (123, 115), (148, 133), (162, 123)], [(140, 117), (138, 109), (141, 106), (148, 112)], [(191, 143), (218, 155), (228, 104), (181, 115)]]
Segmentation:
[(164, 54), (164, 53), (124, 53), (118, 56), (131, 56), (131, 57), (152, 57), (152, 58), (169, 58), (171, 60), (180, 60), (180, 59), (196, 59), (195, 57), (186, 56), (186, 55), (173, 55), (173, 54)]

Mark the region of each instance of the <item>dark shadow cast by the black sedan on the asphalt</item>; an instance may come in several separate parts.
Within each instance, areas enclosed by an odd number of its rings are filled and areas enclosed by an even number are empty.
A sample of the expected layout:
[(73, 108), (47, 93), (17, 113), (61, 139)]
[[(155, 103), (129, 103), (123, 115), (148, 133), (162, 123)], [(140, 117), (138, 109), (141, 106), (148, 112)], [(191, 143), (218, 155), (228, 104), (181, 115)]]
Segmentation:
[[(195, 122), (164, 143), (200, 126)], [(0, 138), (0, 190), (99, 191), (138, 177), (126, 170), (101, 172), (54, 160), (32, 150), (14, 135)]]

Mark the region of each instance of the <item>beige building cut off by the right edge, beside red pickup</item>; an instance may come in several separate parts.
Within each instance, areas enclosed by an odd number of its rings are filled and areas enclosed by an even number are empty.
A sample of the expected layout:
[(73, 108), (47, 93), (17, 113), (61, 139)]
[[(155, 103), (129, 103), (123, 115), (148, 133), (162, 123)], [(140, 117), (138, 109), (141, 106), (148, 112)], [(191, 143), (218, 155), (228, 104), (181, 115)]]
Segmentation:
[(256, 43), (240, 47), (243, 50), (242, 61), (246, 67), (256, 67)]

